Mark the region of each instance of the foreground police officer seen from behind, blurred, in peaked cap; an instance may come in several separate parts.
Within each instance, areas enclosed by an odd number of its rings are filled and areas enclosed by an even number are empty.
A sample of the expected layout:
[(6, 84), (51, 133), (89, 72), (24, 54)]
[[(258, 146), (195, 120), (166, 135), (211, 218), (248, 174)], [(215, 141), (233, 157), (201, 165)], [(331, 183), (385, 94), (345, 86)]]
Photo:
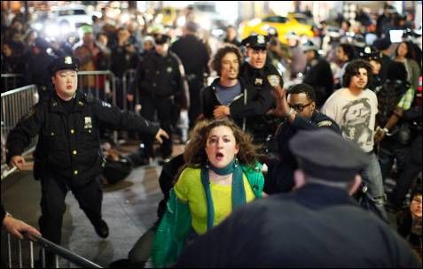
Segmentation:
[(289, 144), (302, 169), (296, 191), (232, 212), (177, 267), (421, 267), (407, 242), (349, 196), (367, 162), (356, 144), (327, 129)]

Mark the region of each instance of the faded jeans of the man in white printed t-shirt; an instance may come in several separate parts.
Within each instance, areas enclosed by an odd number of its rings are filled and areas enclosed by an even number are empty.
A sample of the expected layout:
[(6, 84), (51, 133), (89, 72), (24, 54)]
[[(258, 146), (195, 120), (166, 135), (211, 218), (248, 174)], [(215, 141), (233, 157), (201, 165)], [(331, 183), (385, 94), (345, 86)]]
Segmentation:
[(382, 173), (378, 158), (373, 152), (367, 153), (369, 164), (363, 169), (361, 175), (367, 186), (366, 196), (372, 203), (371, 211), (374, 211), (381, 219), (388, 221), (387, 211), (385, 211), (385, 189), (383, 188)]

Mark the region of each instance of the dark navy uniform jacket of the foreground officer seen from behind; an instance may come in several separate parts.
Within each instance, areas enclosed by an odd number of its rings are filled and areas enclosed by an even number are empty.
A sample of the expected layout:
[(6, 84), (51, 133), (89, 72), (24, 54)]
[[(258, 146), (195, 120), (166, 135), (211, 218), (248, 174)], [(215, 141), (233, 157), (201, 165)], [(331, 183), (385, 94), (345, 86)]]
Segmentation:
[(338, 188), (307, 184), (247, 204), (186, 247), (176, 267), (413, 267), (386, 223)]

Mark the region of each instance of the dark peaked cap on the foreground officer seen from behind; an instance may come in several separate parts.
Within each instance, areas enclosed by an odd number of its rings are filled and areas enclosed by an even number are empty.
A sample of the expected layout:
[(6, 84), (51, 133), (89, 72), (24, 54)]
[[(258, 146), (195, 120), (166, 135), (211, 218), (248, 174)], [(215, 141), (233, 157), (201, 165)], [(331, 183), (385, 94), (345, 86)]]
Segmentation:
[(326, 128), (298, 132), (289, 148), (305, 173), (326, 181), (351, 181), (368, 162), (356, 143)]

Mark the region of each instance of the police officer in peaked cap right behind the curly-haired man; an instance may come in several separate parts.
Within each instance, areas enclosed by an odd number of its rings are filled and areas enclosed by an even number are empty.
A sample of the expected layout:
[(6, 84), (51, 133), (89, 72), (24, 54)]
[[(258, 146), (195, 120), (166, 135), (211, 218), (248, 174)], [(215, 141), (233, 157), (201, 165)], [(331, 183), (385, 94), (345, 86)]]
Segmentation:
[[(265, 111), (271, 111), (276, 106), (275, 97), (271, 94), (270, 81), (284, 86), (284, 81), (278, 73), (278, 70), (267, 63), (267, 35), (250, 35), (241, 43), (246, 46), (247, 61), (240, 67), (239, 78), (253, 85), (256, 90), (264, 96), (266, 103)], [(270, 134), (273, 134), (279, 121), (272, 116), (257, 116), (255, 129), (252, 131), (255, 142), (264, 143)], [(270, 146), (267, 145), (267, 148)], [(269, 150), (269, 149), (268, 149)]]

